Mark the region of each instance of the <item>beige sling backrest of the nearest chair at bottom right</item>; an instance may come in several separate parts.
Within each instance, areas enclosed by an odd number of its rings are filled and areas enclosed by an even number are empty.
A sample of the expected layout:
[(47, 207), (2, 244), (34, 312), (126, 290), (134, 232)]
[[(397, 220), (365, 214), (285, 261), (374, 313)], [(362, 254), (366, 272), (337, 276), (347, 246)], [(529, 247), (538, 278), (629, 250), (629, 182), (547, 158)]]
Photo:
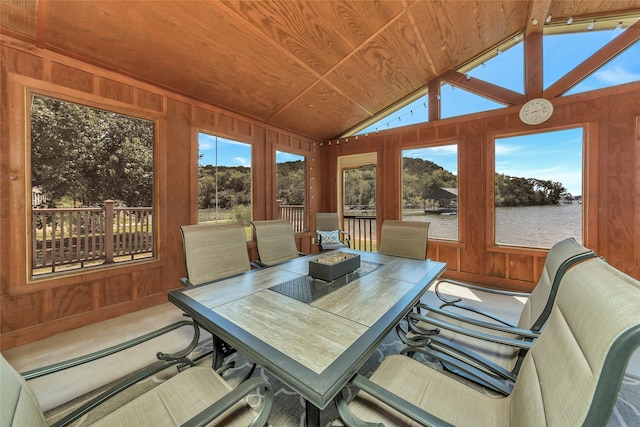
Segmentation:
[(639, 281), (599, 258), (572, 267), (520, 369), (511, 394), (512, 425), (525, 425), (540, 412), (549, 426), (582, 425), (611, 346), (640, 325), (639, 307)]

